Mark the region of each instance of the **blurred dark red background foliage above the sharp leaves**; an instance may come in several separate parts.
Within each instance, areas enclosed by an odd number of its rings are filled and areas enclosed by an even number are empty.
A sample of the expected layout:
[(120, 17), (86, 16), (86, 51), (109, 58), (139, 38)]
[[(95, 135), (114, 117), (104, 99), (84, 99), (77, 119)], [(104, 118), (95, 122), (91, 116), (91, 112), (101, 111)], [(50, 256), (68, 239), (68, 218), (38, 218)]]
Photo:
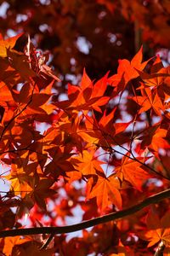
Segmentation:
[[(119, 59), (132, 59), (144, 45), (144, 58), (156, 53), (170, 59), (169, 0), (9, 0), (0, 1), (3, 37), (30, 34), (37, 49), (50, 52), (49, 65), (61, 79), (58, 96), (68, 82), (77, 84), (83, 67), (91, 79), (110, 70)], [(26, 44), (22, 38), (19, 49)], [(16, 46), (17, 47), (17, 46)]]

